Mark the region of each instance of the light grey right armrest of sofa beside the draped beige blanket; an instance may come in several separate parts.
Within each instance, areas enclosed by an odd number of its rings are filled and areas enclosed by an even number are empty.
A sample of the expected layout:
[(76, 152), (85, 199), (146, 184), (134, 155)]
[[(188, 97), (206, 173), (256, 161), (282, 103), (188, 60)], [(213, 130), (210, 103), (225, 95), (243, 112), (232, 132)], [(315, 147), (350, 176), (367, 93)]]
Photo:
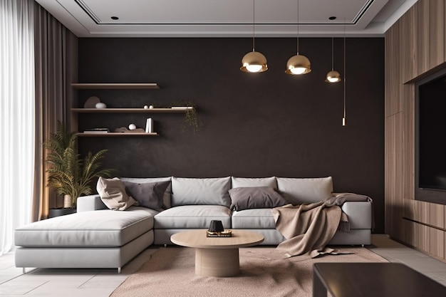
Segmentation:
[(371, 202), (344, 202), (342, 211), (347, 214), (351, 229), (372, 229)]

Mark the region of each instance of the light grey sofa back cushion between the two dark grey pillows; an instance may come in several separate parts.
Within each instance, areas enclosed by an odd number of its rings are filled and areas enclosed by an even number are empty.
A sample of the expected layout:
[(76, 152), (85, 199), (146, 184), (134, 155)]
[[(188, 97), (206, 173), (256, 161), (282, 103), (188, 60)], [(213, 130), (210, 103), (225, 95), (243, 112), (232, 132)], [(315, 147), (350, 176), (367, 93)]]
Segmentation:
[(222, 205), (229, 207), (231, 177), (172, 177), (172, 207), (180, 205)]

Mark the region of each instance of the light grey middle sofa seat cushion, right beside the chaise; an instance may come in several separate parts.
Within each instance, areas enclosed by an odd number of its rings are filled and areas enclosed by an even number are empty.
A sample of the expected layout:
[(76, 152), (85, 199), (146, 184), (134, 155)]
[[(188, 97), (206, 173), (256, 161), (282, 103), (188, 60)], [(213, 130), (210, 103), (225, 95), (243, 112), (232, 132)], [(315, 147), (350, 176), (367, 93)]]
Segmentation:
[(155, 216), (155, 229), (207, 229), (212, 220), (231, 228), (231, 211), (221, 205), (183, 205)]

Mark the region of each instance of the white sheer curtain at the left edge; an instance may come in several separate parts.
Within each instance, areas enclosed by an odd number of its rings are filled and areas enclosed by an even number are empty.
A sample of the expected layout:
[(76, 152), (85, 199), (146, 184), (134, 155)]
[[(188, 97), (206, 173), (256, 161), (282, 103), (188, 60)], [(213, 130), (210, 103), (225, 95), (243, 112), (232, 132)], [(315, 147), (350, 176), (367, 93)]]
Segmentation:
[(0, 0), (0, 255), (31, 222), (34, 171), (33, 0)]

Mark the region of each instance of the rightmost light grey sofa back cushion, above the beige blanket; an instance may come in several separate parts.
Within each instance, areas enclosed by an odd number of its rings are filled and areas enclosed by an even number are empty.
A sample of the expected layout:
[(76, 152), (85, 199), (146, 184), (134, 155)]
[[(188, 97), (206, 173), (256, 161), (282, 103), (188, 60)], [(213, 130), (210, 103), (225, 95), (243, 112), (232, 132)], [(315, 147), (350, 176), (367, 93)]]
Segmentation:
[(333, 179), (331, 177), (277, 177), (276, 179), (279, 192), (283, 194), (287, 202), (293, 205), (319, 202), (331, 197), (333, 192)]

